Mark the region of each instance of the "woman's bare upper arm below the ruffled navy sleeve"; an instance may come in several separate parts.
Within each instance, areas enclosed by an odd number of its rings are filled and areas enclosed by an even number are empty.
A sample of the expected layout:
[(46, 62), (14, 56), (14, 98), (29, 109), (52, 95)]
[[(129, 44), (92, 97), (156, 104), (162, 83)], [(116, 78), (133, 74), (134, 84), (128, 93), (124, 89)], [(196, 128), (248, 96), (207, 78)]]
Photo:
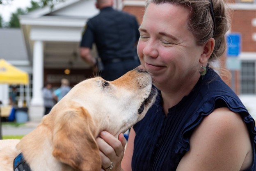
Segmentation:
[(242, 171), (252, 162), (249, 133), (239, 114), (215, 109), (190, 137), (176, 171)]

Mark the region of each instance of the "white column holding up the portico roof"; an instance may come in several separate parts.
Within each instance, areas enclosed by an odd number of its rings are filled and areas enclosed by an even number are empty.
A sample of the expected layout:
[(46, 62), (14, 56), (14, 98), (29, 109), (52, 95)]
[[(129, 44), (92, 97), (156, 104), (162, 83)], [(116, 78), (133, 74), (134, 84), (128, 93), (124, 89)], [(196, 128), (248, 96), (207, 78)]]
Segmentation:
[(43, 116), (43, 41), (34, 41), (33, 49), (33, 95), (29, 115), (31, 121), (39, 121)]

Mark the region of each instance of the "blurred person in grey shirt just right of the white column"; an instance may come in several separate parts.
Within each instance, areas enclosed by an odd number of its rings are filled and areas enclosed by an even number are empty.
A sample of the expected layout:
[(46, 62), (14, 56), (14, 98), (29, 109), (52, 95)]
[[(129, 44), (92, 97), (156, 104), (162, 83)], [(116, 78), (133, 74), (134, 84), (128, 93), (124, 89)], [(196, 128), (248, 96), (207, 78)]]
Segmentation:
[(52, 84), (50, 83), (46, 83), (43, 87), (43, 102), (45, 109), (44, 115), (49, 114), (54, 105)]

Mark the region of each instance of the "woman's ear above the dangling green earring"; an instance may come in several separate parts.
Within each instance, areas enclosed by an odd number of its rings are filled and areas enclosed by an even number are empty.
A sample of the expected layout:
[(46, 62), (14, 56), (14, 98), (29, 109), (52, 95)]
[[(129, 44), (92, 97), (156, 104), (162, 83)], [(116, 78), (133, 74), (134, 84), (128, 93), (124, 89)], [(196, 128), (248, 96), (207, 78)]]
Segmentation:
[(208, 63), (208, 59), (210, 55), (212, 55), (215, 46), (215, 40), (210, 38), (203, 47), (203, 53), (200, 57), (200, 63), (206, 65)]

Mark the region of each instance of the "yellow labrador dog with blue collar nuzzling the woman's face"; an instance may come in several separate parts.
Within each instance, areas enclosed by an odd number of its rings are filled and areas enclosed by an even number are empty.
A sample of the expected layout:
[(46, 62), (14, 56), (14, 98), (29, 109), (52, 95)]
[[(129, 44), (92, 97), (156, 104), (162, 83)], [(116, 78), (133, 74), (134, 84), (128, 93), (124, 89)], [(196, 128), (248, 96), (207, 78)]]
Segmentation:
[(155, 101), (151, 84), (142, 66), (112, 82), (80, 82), (20, 141), (0, 140), (0, 171), (100, 171), (96, 137), (141, 120)]

